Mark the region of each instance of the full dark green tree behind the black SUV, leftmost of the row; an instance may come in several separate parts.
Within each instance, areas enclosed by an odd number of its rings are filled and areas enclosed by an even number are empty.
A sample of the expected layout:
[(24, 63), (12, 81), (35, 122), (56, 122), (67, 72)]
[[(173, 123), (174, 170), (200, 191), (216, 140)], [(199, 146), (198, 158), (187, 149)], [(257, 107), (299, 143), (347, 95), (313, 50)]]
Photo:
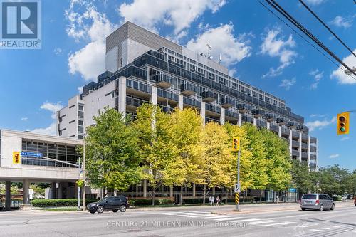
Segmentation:
[(94, 187), (126, 191), (141, 179), (137, 132), (114, 109), (93, 117), (96, 125), (87, 128), (85, 168)]

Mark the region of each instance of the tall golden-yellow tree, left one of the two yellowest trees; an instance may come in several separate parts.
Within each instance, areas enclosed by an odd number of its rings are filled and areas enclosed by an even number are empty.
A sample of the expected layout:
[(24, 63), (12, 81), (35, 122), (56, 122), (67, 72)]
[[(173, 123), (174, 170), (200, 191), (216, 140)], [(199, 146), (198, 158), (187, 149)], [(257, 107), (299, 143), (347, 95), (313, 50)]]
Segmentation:
[(172, 141), (177, 147), (177, 162), (172, 169), (176, 169), (176, 184), (179, 184), (179, 204), (183, 203), (183, 187), (192, 183), (202, 184), (202, 148), (201, 132), (202, 120), (197, 110), (185, 108), (176, 109), (172, 118)]

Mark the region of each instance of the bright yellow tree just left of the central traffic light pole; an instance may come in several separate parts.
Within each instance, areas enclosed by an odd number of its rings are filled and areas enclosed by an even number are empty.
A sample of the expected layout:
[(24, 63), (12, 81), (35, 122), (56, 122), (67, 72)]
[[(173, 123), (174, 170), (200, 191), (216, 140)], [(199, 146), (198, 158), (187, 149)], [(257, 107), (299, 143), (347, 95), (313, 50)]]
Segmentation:
[[(231, 174), (236, 170), (231, 160), (233, 156), (230, 152), (231, 144), (229, 135), (227, 135), (224, 127), (216, 122), (208, 122), (201, 136), (201, 145), (203, 147), (203, 177), (204, 177), (204, 197), (205, 203), (206, 194), (209, 189), (217, 187), (231, 187), (234, 185), (234, 179), (231, 179)], [(206, 187), (209, 189), (206, 191)]]

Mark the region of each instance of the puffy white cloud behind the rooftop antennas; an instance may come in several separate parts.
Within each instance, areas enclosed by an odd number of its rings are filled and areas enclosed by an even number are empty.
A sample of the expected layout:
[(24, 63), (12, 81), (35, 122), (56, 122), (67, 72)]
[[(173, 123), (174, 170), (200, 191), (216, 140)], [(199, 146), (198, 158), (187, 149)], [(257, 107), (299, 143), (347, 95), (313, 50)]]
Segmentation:
[(251, 56), (251, 46), (245, 35), (234, 36), (232, 23), (221, 25), (216, 28), (208, 28), (196, 38), (187, 43), (187, 48), (197, 53), (207, 53), (206, 44), (211, 46), (210, 54), (213, 60), (219, 60), (229, 67), (239, 63), (244, 58)]

